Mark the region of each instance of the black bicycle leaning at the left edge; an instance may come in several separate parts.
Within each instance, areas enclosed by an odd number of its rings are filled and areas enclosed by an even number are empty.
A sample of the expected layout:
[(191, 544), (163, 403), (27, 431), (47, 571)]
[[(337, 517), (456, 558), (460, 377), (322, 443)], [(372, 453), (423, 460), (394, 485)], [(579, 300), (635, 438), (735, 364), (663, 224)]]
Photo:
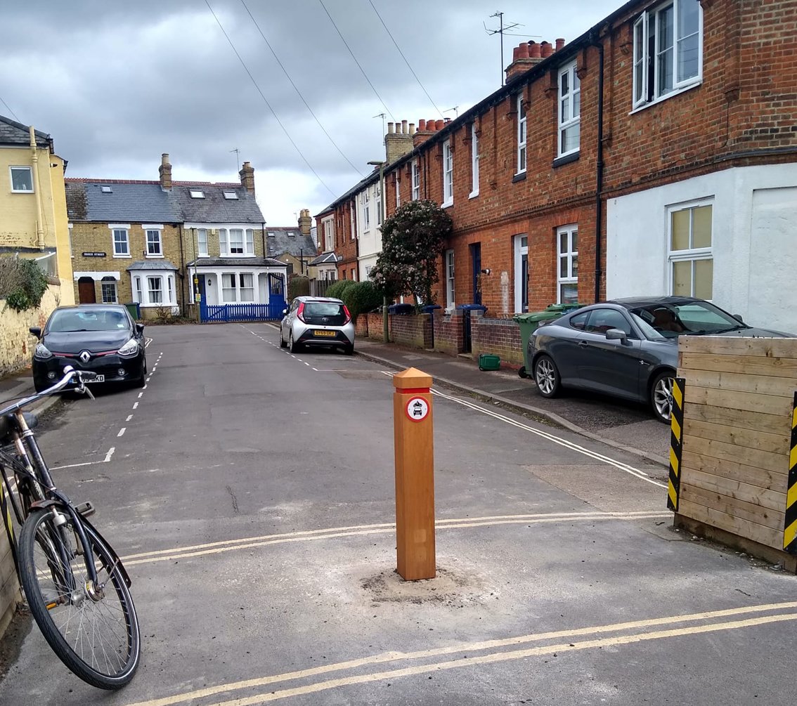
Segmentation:
[[(64, 368), (59, 382), (0, 410), (0, 505), (19, 582), (41, 633), (88, 684), (119, 689), (138, 669), (140, 633), (128, 572), (88, 521), (90, 502), (73, 504), (53, 483), (23, 408), (49, 394), (88, 394), (96, 373)], [(14, 493), (16, 489), (16, 493)], [(8, 511), (14, 510), (19, 539)]]

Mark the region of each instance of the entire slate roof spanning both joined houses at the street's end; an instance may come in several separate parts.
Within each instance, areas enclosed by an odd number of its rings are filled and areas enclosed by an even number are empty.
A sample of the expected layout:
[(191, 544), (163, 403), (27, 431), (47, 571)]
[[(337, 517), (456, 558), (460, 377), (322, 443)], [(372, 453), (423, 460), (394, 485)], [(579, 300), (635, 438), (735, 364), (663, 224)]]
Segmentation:
[[(264, 221), (253, 194), (240, 184), (160, 182), (127, 179), (67, 178), (66, 208), (70, 221), (136, 223), (251, 223)], [(105, 187), (105, 191), (103, 190)], [(191, 198), (190, 191), (203, 198)], [(224, 192), (238, 198), (225, 198)]]

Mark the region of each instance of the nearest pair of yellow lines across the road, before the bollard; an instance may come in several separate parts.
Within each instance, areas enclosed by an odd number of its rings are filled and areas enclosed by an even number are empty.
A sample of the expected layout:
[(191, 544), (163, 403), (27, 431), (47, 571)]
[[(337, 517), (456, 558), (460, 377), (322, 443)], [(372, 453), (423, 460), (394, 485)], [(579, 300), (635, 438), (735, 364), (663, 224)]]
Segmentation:
[[(740, 630), (776, 622), (797, 620), (795, 613), (780, 613), (773, 615), (762, 615), (757, 618), (744, 618), (739, 620), (721, 621), (721, 618), (734, 618), (745, 614), (763, 613), (774, 610), (788, 610), (797, 607), (795, 602), (771, 603), (768, 605), (745, 606), (742, 608), (732, 608), (727, 610), (714, 610), (706, 613), (694, 613), (685, 615), (673, 615), (665, 618), (649, 618), (634, 622), (621, 622), (609, 625), (591, 626), (585, 628), (575, 628), (573, 630), (557, 630), (548, 633), (531, 633), (517, 637), (504, 639), (488, 640), (480, 642), (463, 642), (458, 645), (447, 645), (446, 647), (418, 650), (417, 652), (387, 652), (362, 657), (354, 660), (340, 661), (330, 665), (320, 665), (309, 669), (300, 669), (283, 674), (275, 674), (267, 677), (257, 677), (243, 681), (235, 681), (227, 684), (196, 689), (191, 692), (183, 692), (174, 696), (166, 696), (159, 699), (139, 701), (129, 706), (173, 706), (191, 700), (203, 699), (208, 696), (215, 696), (224, 692), (240, 691), (241, 689), (251, 689), (278, 684), (285, 681), (295, 681), (316, 677), (323, 674), (340, 671), (352, 671), (369, 667), (371, 665), (383, 665), (391, 662), (406, 662), (411, 660), (429, 659), (434, 657), (446, 657), (449, 655), (459, 655), (457, 659), (447, 661), (432, 661), (422, 665), (409, 666), (403, 669), (391, 669), (389, 671), (373, 672), (370, 674), (356, 674), (349, 677), (339, 677), (327, 681), (317, 681), (314, 684), (304, 684), (295, 688), (287, 688), (281, 691), (272, 691), (255, 696), (247, 696), (236, 700), (226, 700), (207, 706), (248, 706), (248, 704), (260, 704), (265, 701), (274, 701), (288, 698), (289, 696), (299, 696), (301, 694), (325, 691), (341, 686), (352, 684), (364, 684), (373, 681), (385, 681), (397, 677), (417, 676), (418, 674), (436, 672), (441, 669), (457, 669), (457, 667), (469, 667), (479, 664), (495, 664), (498, 662), (525, 659), (528, 657), (541, 657), (548, 654), (560, 654), (575, 652), (576, 650), (605, 648), (618, 645), (632, 645), (650, 640), (665, 638), (685, 637), (689, 635), (705, 634), (718, 632), (720, 630)], [(720, 619), (720, 620), (718, 620)], [(691, 625), (683, 627), (673, 627), (669, 630), (646, 630), (652, 627), (675, 626), (680, 623), (690, 623), (703, 621), (701, 625)], [(714, 622), (711, 622), (714, 621)], [(622, 633), (625, 631), (637, 630), (630, 634), (608, 634), (607, 637), (598, 637), (607, 633)], [(577, 642), (576, 638), (587, 636), (592, 639)], [(497, 650), (516, 645), (528, 645), (533, 642), (558, 640), (555, 644), (540, 645), (537, 647), (527, 647), (525, 649), (510, 649), (508, 651), (493, 651), (481, 655), (474, 655), (474, 652), (486, 650)]]

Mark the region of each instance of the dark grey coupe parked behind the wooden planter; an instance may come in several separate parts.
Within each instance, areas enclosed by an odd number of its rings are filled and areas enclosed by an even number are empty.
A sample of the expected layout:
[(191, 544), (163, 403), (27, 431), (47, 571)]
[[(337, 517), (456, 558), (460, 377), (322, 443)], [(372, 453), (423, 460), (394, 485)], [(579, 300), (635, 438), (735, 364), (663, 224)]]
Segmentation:
[(793, 336), (753, 328), (690, 296), (635, 297), (592, 304), (541, 325), (528, 341), (528, 360), (543, 397), (563, 386), (594, 390), (650, 404), (669, 424), (679, 335)]

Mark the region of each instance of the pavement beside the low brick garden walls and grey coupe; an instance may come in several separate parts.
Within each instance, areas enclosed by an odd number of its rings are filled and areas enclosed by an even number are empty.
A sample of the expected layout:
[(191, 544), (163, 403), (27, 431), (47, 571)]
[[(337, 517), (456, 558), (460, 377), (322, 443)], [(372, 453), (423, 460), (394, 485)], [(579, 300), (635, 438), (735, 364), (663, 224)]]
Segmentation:
[(575, 390), (544, 398), (530, 378), (520, 378), (505, 364), (498, 371), (480, 371), (477, 360), (469, 354), (452, 356), (370, 339), (358, 339), (355, 351), (398, 370), (416, 367), (438, 385), (475, 394), (646, 461), (669, 465), (669, 426), (657, 422), (646, 406)]

